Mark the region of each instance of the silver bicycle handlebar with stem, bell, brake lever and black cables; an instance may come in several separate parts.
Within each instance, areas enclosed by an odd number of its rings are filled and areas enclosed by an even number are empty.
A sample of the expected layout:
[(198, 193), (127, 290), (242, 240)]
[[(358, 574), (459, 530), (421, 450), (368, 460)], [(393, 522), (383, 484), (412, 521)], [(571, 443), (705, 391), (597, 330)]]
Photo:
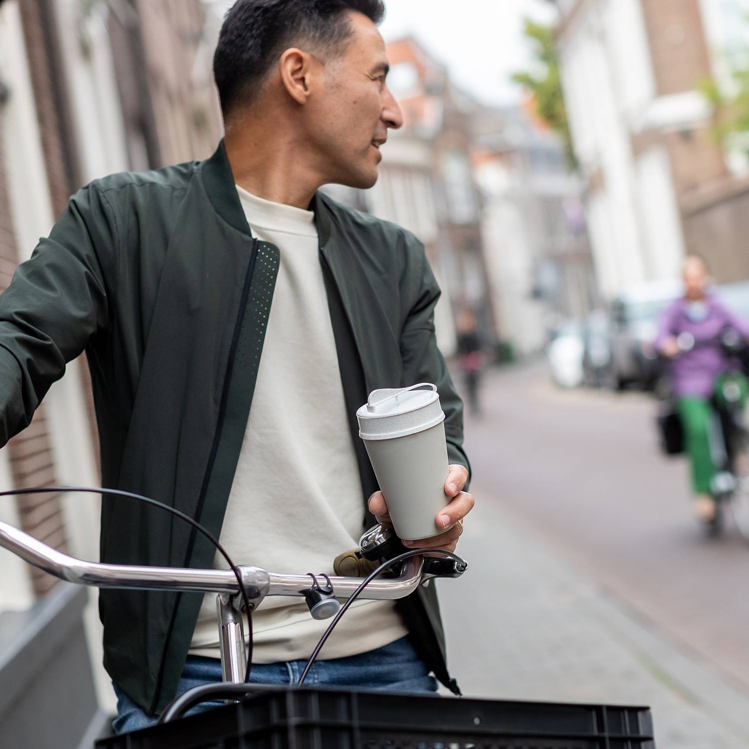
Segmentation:
[[(31, 490), (20, 490), (31, 493)], [(34, 491), (58, 491), (57, 488), (39, 488)], [(89, 488), (63, 488), (62, 491), (103, 490)], [(4, 492), (0, 494), (13, 494)], [(118, 491), (127, 497), (160, 505), (148, 497), (139, 494)], [(216, 545), (229, 565), (228, 569), (192, 569), (181, 567), (156, 567), (140, 565), (119, 565), (103, 562), (86, 562), (70, 557), (29, 536), (28, 533), (0, 521), (0, 548), (16, 554), (25, 562), (34, 565), (49, 574), (79, 585), (91, 585), (100, 588), (125, 588), (145, 590), (178, 590), (216, 594), (216, 614), (219, 625), (219, 644), (221, 650), (222, 673), (225, 682), (240, 683), (249, 680), (252, 649), (245, 647), (243, 631), (243, 612), (248, 619), (267, 595), (300, 596), (306, 599), (309, 612), (315, 619), (326, 619), (333, 616), (333, 622), (321, 637), (318, 646), (312, 653), (306, 669), (300, 677), (300, 683), (309, 673), (321, 647), (330, 632), (339, 622), (343, 613), (348, 610), (357, 598), (370, 600), (395, 600), (410, 595), (423, 578), (460, 577), (468, 565), (460, 557), (440, 549), (403, 551), (392, 554), (394, 541), (399, 542), (392, 530), (383, 530), (375, 526), (360, 539), (359, 554), (366, 560), (373, 561), (380, 557), (383, 561), (367, 577), (328, 577), (322, 574), (326, 585), (321, 586), (318, 578), (308, 574), (278, 574), (252, 565), (233, 565), (217, 539), (214, 539), (204, 528), (192, 521), (187, 515), (164, 506), (185, 521), (195, 525), (207, 538)], [(381, 561), (381, 560), (380, 560)], [(395, 577), (376, 579), (388, 568), (395, 569)], [(312, 581), (310, 580), (312, 578)], [(320, 598), (322, 596), (322, 598)], [(333, 604), (336, 599), (347, 599), (345, 604)], [(329, 603), (330, 601), (330, 603)], [(250, 632), (252, 643), (252, 631)], [(246, 669), (244, 664), (246, 662)]]

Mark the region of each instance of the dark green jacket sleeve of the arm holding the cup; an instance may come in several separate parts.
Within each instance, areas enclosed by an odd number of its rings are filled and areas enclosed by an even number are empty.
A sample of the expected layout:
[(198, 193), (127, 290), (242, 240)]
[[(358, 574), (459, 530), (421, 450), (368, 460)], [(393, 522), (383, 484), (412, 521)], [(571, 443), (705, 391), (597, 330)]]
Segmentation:
[(455, 392), (434, 333), (434, 307), (442, 292), (420, 242), (418, 249), (420, 288), (401, 330), (403, 385), (431, 382), (437, 386), (445, 412), (447, 456), (451, 464), (464, 465), (470, 476), (470, 463), (463, 449), (463, 401)]

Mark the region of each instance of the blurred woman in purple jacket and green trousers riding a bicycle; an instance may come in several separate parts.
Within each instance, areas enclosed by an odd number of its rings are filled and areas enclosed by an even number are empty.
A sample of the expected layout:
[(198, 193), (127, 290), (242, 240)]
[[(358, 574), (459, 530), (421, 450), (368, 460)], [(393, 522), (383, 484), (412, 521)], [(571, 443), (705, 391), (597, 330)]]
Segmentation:
[[(701, 520), (710, 522), (715, 518), (711, 485), (716, 473), (709, 441), (711, 400), (719, 377), (731, 368), (719, 338), (725, 327), (736, 328), (749, 338), (749, 325), (707, 291), (706, 265), (694, 255), (685, 259), (684, 285), (684, 296), (661, 315), (656, 347), (673, 360), (670, 375), (691, 462), (694, 511)], [(682, 351), (678, 342), (681, 333), (689, 333), (698, 345)], [(747, 383), (743, 377), (741, 386), (745, 398)]]

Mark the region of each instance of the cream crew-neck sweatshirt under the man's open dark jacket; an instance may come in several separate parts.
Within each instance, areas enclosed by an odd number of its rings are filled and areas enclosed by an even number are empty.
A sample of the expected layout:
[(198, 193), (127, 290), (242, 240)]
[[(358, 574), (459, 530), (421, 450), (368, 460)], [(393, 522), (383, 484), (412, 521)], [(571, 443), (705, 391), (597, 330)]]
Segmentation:
[[(220, 541), (236, 564), (333, 574), (354, 548), (364, 507), (312, 211), (237, 187), (252, 234), (281, 254), (255, 394)], [(216, 557), (216, 568), (225, 568)], [(266, 598), (252, 616), (255, 663), (308, 658), (329, 621), (303, 598)], [(219, 658), (215, 596), (206, 595), (190, 653)], [(392, 601), (355, 601), (321, 658), (407, 634)]]

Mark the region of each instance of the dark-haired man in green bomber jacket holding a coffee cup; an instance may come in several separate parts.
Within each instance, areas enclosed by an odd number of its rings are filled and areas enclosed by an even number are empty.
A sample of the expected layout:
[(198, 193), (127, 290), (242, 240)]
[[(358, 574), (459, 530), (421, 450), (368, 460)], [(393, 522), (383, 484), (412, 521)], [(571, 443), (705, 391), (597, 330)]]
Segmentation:
[[(105, 486), (181, 509), (238, 563), (332, 572), (373, 515), (388, 519), (357, 407), (372, 389), (431, 381), (450, 501), (443, 533), (419, 546), (455, 548), (473, 497), (423, 247), (318, 192), (372, 187), (380, 145), (401, 127), (382, 14), (380, 0), (234, 5), (214, 61), (216, 154), (82, 189), (0, 297), (3, 440), (85, 349)], [(103, 503), (106, 562), (205, 567), (214, 553), (164, 512)], [(118, 731), (221, 679), (213, 601), (201, 598), (102, 593)], [(289, 683), (311, 654), (324, 622), (299, 601), (253, 614), (253, 681)], [(434, 691), (433, 671), (457, 690), (433, 586), (361, 601), (322, 655), (313, 682)]]

